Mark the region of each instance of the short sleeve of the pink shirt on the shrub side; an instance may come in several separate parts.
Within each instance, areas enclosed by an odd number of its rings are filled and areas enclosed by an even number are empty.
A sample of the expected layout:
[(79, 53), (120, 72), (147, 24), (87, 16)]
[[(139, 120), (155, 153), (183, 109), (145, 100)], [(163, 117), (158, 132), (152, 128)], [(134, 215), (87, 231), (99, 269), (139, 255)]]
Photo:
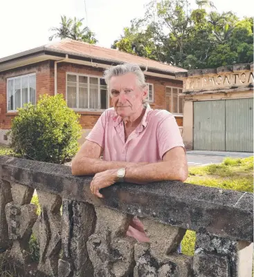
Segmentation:
[(100, 118), (96, 122), (96, 125), (93, 126), (89, 135), (87, 135), (86, 139), (90, 142), (96, 142), (97, 144), (104, 149), (105, 147), (105, 126), (107, 121), (107, 111), (100, 115)]

